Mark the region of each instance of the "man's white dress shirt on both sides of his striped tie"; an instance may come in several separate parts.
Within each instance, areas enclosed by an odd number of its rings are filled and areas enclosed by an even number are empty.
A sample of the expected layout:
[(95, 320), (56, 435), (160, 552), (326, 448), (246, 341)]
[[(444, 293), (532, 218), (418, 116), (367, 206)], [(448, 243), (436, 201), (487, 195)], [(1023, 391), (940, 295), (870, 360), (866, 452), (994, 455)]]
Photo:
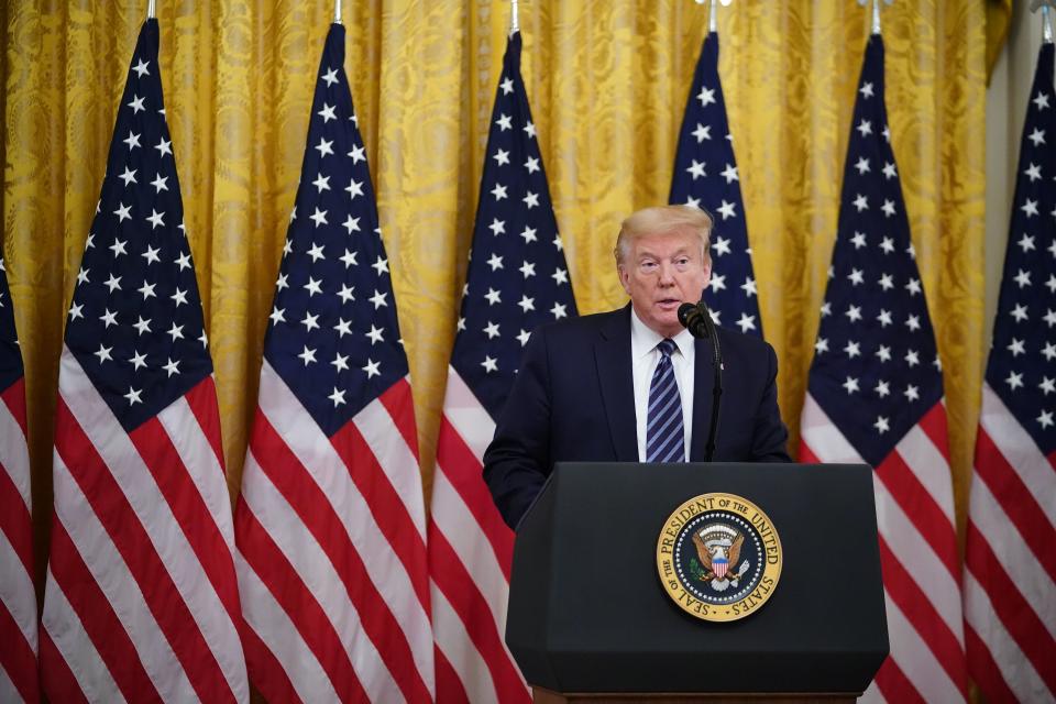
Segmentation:
[[(638, 427), (638, 461), (646, 461), (646, 426), (649, 421), (649, 386), (652, 374), (660, 363), (660, 350), (657, 345), (663, 340), (638, 318), (630, 309), (630, 369), (635, 383), (635, 419)], [(679, 386), (682, 399), (682, 429), (685, 435), (685, 459), (690, 457), (690, 440), (693, 436), (693, 361), (696, 346), (689, 330), (682, 330), (671, 338), (675, 351), (671, 353), (674, 367), (674, 382)]]

